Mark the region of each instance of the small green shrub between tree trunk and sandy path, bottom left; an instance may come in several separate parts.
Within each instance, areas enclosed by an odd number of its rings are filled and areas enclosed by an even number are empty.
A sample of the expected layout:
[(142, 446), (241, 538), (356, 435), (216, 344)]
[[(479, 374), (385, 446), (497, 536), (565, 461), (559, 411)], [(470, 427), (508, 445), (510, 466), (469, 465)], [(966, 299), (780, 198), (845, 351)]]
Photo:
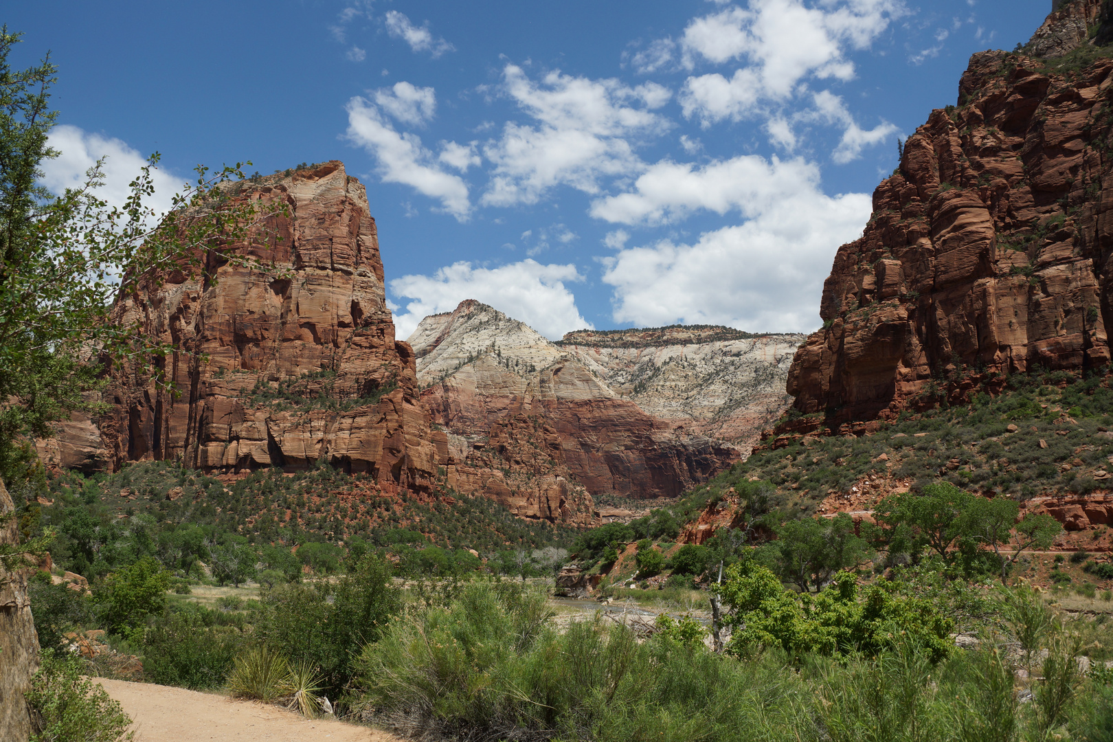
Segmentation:
[(131, 740), (131, 719), (108, 693), (82, 677), (77, 657), (43, 650), (26, 699), (35, 733), (31, 742), (119, 742)]

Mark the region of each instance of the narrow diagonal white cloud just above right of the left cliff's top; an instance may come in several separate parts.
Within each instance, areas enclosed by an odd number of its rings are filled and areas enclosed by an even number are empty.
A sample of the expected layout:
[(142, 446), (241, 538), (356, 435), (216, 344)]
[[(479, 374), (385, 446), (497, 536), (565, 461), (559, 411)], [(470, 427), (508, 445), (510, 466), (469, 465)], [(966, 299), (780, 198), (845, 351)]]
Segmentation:
[(422, 146), (421, 138), (411, 132), (396, 131), (378, 108), (365, 98), (352, 98), (347, 112), (348, 141), (375, 157), (383, 182), (410, 186), (424, 196), (440, 200), (442, 209), (457, 220), (466, 220), (471, 212), (467, 184), (460, 176), (445, 172), (439, 158)]

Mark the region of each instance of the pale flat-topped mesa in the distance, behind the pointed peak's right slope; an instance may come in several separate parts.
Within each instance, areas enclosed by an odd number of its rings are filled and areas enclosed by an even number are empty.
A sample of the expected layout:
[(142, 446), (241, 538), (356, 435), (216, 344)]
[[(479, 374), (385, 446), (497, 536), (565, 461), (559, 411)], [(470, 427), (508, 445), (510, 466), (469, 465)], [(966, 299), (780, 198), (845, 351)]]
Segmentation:
[(791, 402), (785, 379), (798, 334), (729, 327), (569, 333), (559, 344), (623, 399), (673, 429), (751, 447)]

